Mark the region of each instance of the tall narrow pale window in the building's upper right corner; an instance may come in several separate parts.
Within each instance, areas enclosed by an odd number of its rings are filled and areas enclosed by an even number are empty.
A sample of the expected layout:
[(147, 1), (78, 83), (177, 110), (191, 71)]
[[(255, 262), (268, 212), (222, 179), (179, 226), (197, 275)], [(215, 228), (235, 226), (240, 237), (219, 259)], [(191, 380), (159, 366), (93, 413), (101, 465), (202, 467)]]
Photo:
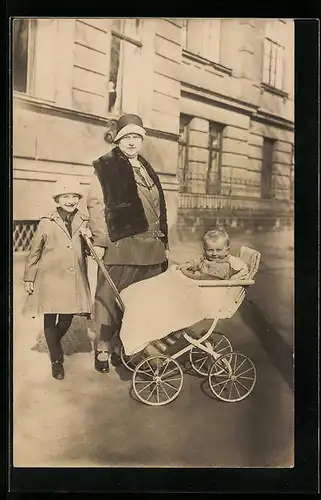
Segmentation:
[(270, 22), (266, 27), (263, 54), (263, 83), (283, 89), (284, 46), (281, 23)]

